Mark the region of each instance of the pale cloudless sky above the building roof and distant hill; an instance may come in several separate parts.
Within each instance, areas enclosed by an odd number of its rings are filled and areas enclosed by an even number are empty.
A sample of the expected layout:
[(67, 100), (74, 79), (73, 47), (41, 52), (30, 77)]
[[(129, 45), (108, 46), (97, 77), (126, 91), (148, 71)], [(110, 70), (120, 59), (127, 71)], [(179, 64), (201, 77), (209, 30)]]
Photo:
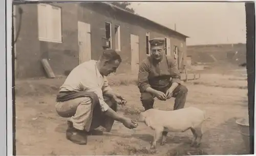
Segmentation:
[(189, 36), (187, 45), (246, 43), (244, 3), (132, 2), (137, 14)]

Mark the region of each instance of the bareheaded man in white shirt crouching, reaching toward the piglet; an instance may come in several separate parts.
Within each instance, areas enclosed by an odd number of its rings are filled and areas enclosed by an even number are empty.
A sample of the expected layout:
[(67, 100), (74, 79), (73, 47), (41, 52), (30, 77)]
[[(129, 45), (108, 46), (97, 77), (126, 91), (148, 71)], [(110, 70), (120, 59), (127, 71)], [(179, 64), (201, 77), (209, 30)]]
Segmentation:
[(70, 117), (67, 139), (87, 144), (87, 136), (93, 129), (103, 126), (111, 131), (114, 120), (127, 128), (137, 126), (116, 112), (117, 104), (122, 105), (124, 99), (112, 91), (105, 77), (115, 72), (120, 63), (116, 51), (106, 49), (98, 61), (84, 62), (70, 72), (60, 87), (55, 105), (59, 116)]

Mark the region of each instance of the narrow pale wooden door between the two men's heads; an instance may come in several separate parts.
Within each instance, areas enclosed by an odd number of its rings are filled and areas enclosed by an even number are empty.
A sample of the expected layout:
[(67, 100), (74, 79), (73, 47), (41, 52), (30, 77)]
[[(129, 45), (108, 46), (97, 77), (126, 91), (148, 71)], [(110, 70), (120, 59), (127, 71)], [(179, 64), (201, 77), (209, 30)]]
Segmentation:
[(139, 71), (139, 36), (131, 34), (131, 68), (132, 72)]

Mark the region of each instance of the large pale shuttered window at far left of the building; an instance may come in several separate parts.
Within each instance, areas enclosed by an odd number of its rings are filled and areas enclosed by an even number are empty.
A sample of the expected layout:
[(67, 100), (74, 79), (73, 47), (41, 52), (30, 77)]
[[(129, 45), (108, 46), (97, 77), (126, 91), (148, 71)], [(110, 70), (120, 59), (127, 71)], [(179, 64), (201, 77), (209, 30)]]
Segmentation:
[(37, 11), (39, 40), (62, 42), (61, 9), (49, 4), (38, 4)]

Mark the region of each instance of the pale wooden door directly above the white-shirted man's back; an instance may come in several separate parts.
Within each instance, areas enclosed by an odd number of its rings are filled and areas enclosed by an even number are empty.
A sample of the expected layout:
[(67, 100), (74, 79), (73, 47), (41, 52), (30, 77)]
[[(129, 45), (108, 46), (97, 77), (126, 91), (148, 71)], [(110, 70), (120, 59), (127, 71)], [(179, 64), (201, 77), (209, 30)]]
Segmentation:
[(91, 60), (91, 24), (78, 21), (79, 64)]

